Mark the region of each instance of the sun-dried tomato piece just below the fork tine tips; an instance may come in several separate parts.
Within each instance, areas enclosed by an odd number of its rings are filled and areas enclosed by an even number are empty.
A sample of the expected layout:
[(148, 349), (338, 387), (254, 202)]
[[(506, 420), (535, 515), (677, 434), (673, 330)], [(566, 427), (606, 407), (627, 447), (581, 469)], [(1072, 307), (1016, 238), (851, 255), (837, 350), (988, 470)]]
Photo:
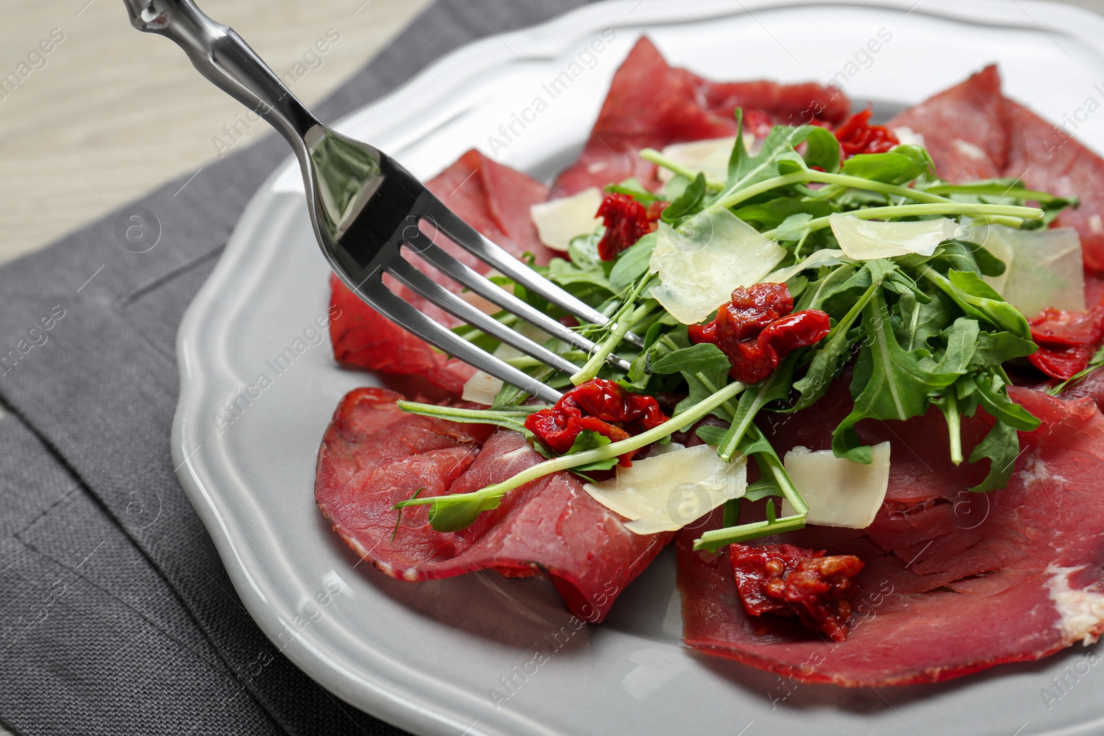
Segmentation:
[[(554, 406), (526, 417), (526, 429), (541, 445), (562, 455), (584, 429), (616, 442), (665, 422), (667, 415), (651, 396), (629, 393), (613, 381), (592, 378), (564, 393)], [(631, 465), (633, 455), (622, 456), (620, 463)]]

